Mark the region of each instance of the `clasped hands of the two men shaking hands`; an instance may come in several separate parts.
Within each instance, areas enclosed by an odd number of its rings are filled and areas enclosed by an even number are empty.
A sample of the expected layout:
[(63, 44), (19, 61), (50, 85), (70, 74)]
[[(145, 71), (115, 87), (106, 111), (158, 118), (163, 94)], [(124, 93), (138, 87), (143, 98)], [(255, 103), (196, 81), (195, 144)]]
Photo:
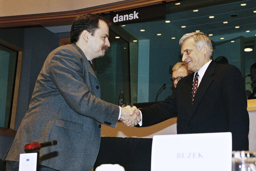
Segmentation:
[(141, 121), (141, 113), (136, 106), (125, 106), (121, 109), (121, 117), (119, 120), (127, 127), (133, 127)]

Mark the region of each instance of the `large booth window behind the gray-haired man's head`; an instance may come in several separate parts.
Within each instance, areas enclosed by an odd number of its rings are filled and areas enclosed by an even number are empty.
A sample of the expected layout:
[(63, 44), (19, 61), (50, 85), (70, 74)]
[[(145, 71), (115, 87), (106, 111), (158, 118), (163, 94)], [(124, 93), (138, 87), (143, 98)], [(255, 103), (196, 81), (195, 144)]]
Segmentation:
[[(138, 96), (138, 103), (155, 101), (156, 94), (164, 83), (166, 83), (166, 88), (160, 92), (158, 101), (172, 94), (171, 68), (181, 61), (179, 39), (185, 33), (200, 30), (209, 35), (213, 44), (216, 45), (213, 59), (215, 60), (218, 56), (227, 57), (229, 64), (241, 69), (243, 77), (248, 74), (248, 66), (255, 62), (252, 60), (253, 57), (247, 58), (243, 55), (241, 44), (245, 42), (245, 39), (241, 41), (240, 38), (253, 37), (255, 39), (256, 3), (254, 0), (211, 2), (186, 0), (181, 1), (180, 5), (175, 5), (175, 3), (166, 4), (166, 15), (163, 17), (165, 19), (152, 18), (151, 21), (130, 23), (121, 27), (139, 42), (138, 74), (147, 72), (149, 75), (146, 80), (148, 81), (147, 92), (143, 94), (146, 98), (140, 101)], [(242, 6), (242, 3), (247, 5)], [(209, 16), (214, 17), (209, 18)], [(235, 28), (237, 25), (240, 28)], [(230, 42), (233, 39), (235, 42)], [(140, 51), (148, 53), (148, 56), (145, 56), (145, 53), (140, 55)], [(140, 65), (142, 59), (146, 61)], [(142, 79), (138, 79), (138, 90), (139, 81)], [(145, 99), (148, 100), (145, 101)]]

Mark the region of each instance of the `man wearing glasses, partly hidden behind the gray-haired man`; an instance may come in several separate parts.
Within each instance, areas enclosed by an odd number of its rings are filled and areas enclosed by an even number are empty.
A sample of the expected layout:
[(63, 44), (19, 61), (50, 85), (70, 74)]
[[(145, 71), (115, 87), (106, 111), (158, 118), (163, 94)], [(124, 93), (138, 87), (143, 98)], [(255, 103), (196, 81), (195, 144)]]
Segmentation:
[(192, 73), (191, 71), (187, 70), (187, 65), (185, 62), (178, 62), (172, 68), (172, 78), (171, 81), (173, 82), (174, 87), (177, 87), (178, 81), (187, 76), (188, 74)]

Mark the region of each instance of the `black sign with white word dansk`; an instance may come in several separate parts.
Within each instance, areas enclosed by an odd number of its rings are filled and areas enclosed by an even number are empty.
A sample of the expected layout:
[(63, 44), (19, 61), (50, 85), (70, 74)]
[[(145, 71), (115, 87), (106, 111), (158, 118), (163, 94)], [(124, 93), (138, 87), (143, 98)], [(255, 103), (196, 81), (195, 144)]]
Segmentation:
[(165, 4), (151, 5), (132, 10), (120, 11), (110, 14), (110, 21), (114, 24), (145, 22), (149, 19), (158, 20), (165, 18)]

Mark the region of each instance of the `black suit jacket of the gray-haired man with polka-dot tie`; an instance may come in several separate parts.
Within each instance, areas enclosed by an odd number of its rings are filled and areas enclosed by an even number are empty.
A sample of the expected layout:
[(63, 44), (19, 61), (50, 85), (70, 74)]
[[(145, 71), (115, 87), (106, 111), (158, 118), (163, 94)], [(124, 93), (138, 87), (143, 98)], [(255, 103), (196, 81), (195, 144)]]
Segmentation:
[(178, 134), (231, 132), (233, 150), (248, 150), (249, 115), (240, 70), (211, 61), (191, 105), (193, 76), (179, 80), (165, 101), (141, 109), (142, 126), (177, 116)]

